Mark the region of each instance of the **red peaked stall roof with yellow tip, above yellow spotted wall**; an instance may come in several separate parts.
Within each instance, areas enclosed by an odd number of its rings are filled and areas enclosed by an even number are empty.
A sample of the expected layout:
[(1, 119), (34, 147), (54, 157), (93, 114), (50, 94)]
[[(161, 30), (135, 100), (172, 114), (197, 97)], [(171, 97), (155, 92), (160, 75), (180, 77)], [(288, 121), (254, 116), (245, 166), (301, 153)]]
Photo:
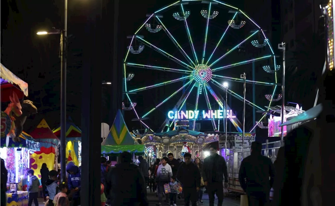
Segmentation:
[(54, 143), (58, 142), (57, 136), (51, 131), (45, 119), (42, 119), (37, 127), (30, 132), (30, 135), (37, 139), (39, 142)]

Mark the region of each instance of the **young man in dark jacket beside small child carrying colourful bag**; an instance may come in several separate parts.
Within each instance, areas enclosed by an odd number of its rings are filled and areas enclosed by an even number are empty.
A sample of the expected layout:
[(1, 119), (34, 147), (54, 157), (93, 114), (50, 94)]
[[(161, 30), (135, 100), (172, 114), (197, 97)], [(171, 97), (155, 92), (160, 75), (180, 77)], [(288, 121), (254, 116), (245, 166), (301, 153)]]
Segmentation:
[(182, 184), (183, 194), (185, 199), (185, 206), (190, 205), (190, 200), (192, 206), (197, 205), (197, 192), (200, 188), (201, 175), (198, 167), (191, 162), (191, 154), (184, 154), (185, 163), (181, 165), (177, 172), (177, 180)]

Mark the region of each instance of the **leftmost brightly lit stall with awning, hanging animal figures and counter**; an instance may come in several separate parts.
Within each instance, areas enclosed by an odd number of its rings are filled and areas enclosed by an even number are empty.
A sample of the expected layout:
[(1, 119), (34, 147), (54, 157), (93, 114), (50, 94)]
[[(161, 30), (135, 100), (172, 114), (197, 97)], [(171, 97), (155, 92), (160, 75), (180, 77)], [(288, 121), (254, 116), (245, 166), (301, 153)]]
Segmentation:
[(29, 100), (28, 84), (15, 76), (0, 63), (0, 157), (8, 171), (7, 205), (28, 204), (28, 192), (24, 190), (29, 169), (29, 152), (39, 151), (40, 145), (23, 132), (27, 116), (37, 109)]

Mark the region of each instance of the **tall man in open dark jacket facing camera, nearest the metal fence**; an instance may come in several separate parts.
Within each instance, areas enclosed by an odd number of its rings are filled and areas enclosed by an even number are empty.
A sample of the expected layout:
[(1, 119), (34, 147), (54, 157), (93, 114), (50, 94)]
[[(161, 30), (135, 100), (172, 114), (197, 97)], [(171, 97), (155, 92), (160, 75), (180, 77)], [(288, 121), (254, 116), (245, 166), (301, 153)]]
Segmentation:
[(224, 158), (218, 155), (215, 144), (209, 147), (210, 156), (204, 159), (202, 164), (202, 178), (207, 187), (209, 206), (214, 206), (214, 194), (217, 196), (217, 205), (222, 206), (223, 202), (223, 176), (224, 186), (228, 186), (227, 164)]

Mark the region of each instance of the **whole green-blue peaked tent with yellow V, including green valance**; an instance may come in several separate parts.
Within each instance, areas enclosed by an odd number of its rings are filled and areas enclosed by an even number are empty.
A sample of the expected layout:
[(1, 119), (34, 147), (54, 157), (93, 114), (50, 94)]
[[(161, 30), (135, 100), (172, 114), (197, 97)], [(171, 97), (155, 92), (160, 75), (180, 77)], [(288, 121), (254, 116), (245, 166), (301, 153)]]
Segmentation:
[(135, 156), (143, 155), (145, 146), (139, 144), (130, 134), (127, 125), (123, 119), (122, 113), (118, 110), (113, 125), (108, 136), (101, 143), (101, 154), (103, 156), (118, 156), (119, 153), (128, 151)]

